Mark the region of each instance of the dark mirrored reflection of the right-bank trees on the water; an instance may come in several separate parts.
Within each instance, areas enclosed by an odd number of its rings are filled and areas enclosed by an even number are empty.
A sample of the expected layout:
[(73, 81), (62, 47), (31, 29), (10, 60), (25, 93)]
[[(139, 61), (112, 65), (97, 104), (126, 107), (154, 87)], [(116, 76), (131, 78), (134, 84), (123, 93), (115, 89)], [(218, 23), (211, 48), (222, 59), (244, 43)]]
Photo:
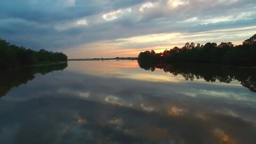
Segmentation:
[(256, 68), (239, 68), (230, 66), (188, 65), (186, 63), (149, 63), (138, 61), (140, 68), (155, 71), (163, 69), (165, 73), (182, 75), (187, 81), (204, 79), (206, 82), (220, 81), (230, 83), (238, 81), (252, 92), (256, 92)]

